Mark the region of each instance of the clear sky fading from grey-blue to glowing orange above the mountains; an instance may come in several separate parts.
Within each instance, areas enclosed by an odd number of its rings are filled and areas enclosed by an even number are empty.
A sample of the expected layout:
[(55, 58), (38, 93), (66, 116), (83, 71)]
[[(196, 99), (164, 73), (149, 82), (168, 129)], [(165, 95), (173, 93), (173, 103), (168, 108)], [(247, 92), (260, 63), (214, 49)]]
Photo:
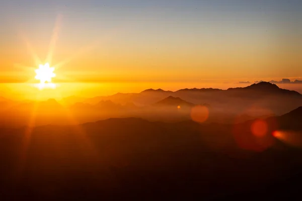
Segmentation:
[(53, 82), (99, 83), (102, 94), (301, 80), (300, 19), (298, 0), (4, 0), (0, 81), (21, 94), (12, 84), (37, 81), (35, 54)]

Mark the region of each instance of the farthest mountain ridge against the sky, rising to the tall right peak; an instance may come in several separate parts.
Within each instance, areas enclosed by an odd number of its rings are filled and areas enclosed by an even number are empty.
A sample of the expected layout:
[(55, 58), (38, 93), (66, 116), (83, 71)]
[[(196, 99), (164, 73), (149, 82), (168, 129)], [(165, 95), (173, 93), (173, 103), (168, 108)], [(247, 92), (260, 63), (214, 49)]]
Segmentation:
[(248, 107), (248, 105), (258, 102), (258, 99), (262, 98), (264, 106), (260, 107), (269, 107), (277, 115), (284, 114), (301, 106), (300, 103), (302, 101), (302, 95), (296, 91), (281, 89), (269, 82), (260, 82), (247, 87), (229, 88), (227, 90), (184, 88), (173, 92), (163, 89), (146, 89), (139, 93), (116, 93), (110, 96), (88, 98), (84, 102), (94, 105), (101, 100), (111, 100), (113, 103), (121, 105), (133, 103), (136, 106), (147, 106), (160, 102), (170, 95), (180, 97), (195, 105), (200, 104), (200, 100), (215, 108), (223, 108), (227, 104), (228, 107), (226, 109), (232, 110)]

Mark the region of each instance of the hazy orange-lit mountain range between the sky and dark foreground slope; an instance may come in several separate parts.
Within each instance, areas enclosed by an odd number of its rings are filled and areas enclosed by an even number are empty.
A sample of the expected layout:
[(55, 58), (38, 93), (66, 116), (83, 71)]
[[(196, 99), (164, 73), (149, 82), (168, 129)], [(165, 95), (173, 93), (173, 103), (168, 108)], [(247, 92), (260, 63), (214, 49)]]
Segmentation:
[[(191, 120), (195, 106), (205, 106), (209, 116), (204, 123), (244, 122), (255, 118), (280, 116), (302, 106), (302, 95), (281, 89), (269, 82), (247, 87), (180, 89), (146, 89), (139, 93), (116, 93), (110, 96), (81, 98), (70, 96), (44, 102), (14, 102), (2, 98), (0, 125), (27, 125), (33, 111), (35, 123), (85, 123), (108, 118), (136, 117), (149, 121), (179, 122)], [(40, 122), (40, 123), (39, 123)]]

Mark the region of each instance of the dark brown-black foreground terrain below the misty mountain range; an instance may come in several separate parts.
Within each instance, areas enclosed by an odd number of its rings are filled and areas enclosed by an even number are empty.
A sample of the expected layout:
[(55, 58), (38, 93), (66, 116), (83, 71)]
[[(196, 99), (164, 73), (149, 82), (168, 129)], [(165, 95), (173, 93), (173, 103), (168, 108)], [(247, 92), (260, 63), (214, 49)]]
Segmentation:
[(302, 150), (272, 134), (290, 131), (298, 142), (301, 120), (302, 108), (266, 119), (263, 136), (251, 133), (253, 121), (126, 118), (2, 129), (1, 200), (293, 199), (302, 189)]

